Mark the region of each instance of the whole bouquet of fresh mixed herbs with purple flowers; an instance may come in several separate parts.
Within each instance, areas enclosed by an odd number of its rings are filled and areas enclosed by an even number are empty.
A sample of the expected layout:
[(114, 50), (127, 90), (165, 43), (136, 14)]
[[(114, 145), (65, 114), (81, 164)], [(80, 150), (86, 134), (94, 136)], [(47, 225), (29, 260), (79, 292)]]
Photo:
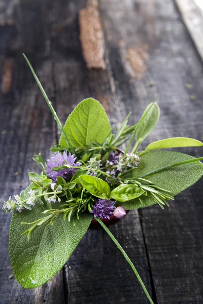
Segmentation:
[[(168, 206), (169, 200), (201, 177), (203, 157), (160, 149), (203, 144), (177, 137), (152, 142), (140, 151), (158, 122), (156, 102), (148, 105), (136, 125), (128, 126), (128, 115), (113, 134), (104, 108), (88, 98), (76, 106), (62, 127), (27, 62), (62, 134), (47, 161), (40, 154), (33, 158), (41, 174), (29, 173), (30, 185), (4, 202), (3, 209), (13, 213), (9, 252), (17, 281), (24, 288), (36, 288), (50, 280), (94, 218), (121, 250), (153, 303), (136, 268), (104, 222), (123, 218), (126, 210)], [(124, 151), (120, 149), (123, 143)]]

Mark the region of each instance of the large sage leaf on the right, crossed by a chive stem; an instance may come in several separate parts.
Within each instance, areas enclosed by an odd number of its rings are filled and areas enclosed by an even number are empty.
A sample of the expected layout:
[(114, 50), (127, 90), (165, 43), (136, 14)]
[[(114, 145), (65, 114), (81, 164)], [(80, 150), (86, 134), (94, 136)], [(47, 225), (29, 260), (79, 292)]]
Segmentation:
[[(141, 177), (153, 170), (190, 159), (194, 158), (187, 154), (173, 151), (149, 151), (141, 157), (139, 167), (136, 168), (136, 170), (132, 169), (126, 172), (125, 177)], [(203, 164), (197, 161), (166, 169), (149, 176), (147, 179), (157, 186), (171, 191), (171, 194), (175, 196), (194, 184), (202, 175)], [(156, 201), (153, 198), (143, 195), (137, 199), (121, 203), (120, 205), (130, 210), (148, 207), (155, 203)]]

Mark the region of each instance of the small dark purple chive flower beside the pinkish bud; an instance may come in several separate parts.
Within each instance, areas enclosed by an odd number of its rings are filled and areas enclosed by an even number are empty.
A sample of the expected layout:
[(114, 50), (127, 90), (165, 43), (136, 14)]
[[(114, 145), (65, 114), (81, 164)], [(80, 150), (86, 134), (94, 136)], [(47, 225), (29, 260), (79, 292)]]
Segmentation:
[(115, 209), (114, 202), (110, 200), (98, 200), (98, 202), (92, 208), (90, 213), (94, 214), (94, 217), (99, 217), (100, 219), (108, 218), (113, 214)]

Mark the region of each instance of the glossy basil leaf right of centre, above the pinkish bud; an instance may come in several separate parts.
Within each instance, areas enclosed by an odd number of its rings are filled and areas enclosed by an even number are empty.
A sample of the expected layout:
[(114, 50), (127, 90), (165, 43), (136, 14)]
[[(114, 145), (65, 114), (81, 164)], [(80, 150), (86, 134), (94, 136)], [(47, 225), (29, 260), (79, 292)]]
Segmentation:
[(118, 187), (113, 189), (110, 193), (110, 198), (117, 200), (119, 202), (125, 202), (132, 200), (134, 198), (138, 198), (145, 191), (138, 187), (137, 185), (132, 184), (120, 184)]

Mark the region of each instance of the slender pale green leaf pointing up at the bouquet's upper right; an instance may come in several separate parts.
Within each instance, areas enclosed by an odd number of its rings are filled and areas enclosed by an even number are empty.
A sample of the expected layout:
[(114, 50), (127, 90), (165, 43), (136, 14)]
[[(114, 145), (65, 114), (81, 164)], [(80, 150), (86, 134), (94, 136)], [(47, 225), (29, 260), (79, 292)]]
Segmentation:
[(138, 123), (136, 131), (136, 140), (144, 140), (155, 128), (159, 119), (159, 106), (156, 102), (150, 103)]

